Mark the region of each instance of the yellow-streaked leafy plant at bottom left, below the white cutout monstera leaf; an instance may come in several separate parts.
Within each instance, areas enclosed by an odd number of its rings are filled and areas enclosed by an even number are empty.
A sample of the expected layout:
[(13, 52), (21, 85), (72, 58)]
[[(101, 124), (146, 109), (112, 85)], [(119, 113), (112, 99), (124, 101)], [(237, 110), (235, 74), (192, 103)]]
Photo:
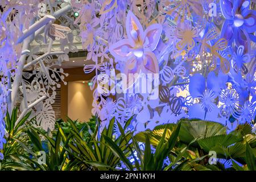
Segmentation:
[[(77, 169), (77, 160), (70, 158), (68, 155), (68, 144), (72, 134), (65, 135), (59, 124), (57, 124), (55, 138), (49, 137), (48, 133), (35, 127), (30, 127), (27, 135), (31, 140), (31, 148), (24, 148), (31, 154), (29, 157), (27, 156), (27, 161), (31, 168), (42, 171), (70, 171)], [(40, 136), (45, 139), (42, 140)]]

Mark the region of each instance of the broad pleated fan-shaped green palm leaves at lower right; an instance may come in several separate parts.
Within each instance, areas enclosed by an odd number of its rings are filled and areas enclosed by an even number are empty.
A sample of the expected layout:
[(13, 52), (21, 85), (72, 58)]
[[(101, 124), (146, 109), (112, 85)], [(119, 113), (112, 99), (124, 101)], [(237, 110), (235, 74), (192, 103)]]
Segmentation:
[[(179, 142), (172, 151), (176, 156), (184, 150), (184, 147), (196, 158), (201, 158), (208, 155), (210, 151), (214, 151), (217, 154), (217, 165), (208, 163), (209, 156), (205, 160), (201, 160), (200, 165), (213, 170), (225, 170), (226, 168), (234, 169), (230, 165), (232, 163), (233, 166), (236, 164), (237, 166), (246, 165), (246, 143), (253, 147), (250, 153), (256, 155), (254, 148), (256, 136), (251, 132), (251, 127), (248, 124), (238, 125), (236, 130), (227, 134), (226, 127), (217, 122), (183, 119), (181, 123)], [(175, 126), (176, 124), (160, 125), (152, 131), (146, 131), (146, 133), (150, 136), (152, 145), (156, 146), (160, 142), (159, 138), (162, 137), (164, 129), (167, 127), (167, 140)], [(140, 142), (146, 141), (143, 133), (137, 134), (135, 138)]]

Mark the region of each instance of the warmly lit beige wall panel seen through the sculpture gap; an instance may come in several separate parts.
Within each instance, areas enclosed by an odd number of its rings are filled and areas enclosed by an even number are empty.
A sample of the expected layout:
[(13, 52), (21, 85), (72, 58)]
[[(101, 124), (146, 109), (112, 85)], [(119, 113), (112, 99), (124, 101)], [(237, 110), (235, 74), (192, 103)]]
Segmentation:
[(88, 84), (68, 82), (68, 117), (79, 121), (88, 121), (92, 115), (93, 92)]

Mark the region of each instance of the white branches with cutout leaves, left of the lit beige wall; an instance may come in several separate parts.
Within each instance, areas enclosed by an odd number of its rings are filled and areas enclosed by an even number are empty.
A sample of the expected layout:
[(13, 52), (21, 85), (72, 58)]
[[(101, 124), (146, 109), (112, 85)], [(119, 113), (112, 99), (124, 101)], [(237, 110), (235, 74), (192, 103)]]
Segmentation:
[(32, 110), (38, 126), (54, 129), (55, 90), (68, 76), (54, 66), (68, 61), (68, 51), (77, 49), (73, 46), (67, 51), (65, 44), (57, 49), (52, 46), (61, 39), (69, 39), (66, 42), (72, 44), (69, 26), (74, 20), (64, 17), (70, 10), (71, 5), (63, 1), (1, 1), (0, 150), (6, 134), (3, 118), (18, 102), (20, 114), (15, 124)]

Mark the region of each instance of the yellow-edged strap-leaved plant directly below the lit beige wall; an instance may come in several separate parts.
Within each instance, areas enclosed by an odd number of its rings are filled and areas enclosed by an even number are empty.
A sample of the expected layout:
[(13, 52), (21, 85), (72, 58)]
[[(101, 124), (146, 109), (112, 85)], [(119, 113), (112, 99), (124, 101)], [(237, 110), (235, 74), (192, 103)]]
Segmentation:
[[(132, 118), (126, 122), (123, 130), (126, 130), (130, 125), (131, 119)], [(106, 143), (108, 139), (112, 140), (113, 143), (119, 146), (119, 149), (123, 152), (123, 155), (129, 156), (130, 151), (127, 148), (126, 141), (131, 140), (132, 133), (128, 131), (125, 134), (125, 139), (122, 136), (116, 137), (114, 135), (115, 118), (112, 118), (108, 127), (105, 127), (102, 130), (100, 138), (97, 138), (99, 127), (96, 125), (96, 130), (88, 142), (83, 139), (82, 131), (77, 130), (74, 122), (71, 121), (71, 119), (68, 119), (68, 122), (73, 127), (73, 130), (71, 130), (73, 138), (68, 144), (69, 148), (71, 148), (70, 155), (79, 160), (80, 169), (114, 170), (115, 167), (117, 167), (117, 164), (120, 162), (120, 158)], [(106, 139), (106, 137), (108, 137), (108, 139)]]

